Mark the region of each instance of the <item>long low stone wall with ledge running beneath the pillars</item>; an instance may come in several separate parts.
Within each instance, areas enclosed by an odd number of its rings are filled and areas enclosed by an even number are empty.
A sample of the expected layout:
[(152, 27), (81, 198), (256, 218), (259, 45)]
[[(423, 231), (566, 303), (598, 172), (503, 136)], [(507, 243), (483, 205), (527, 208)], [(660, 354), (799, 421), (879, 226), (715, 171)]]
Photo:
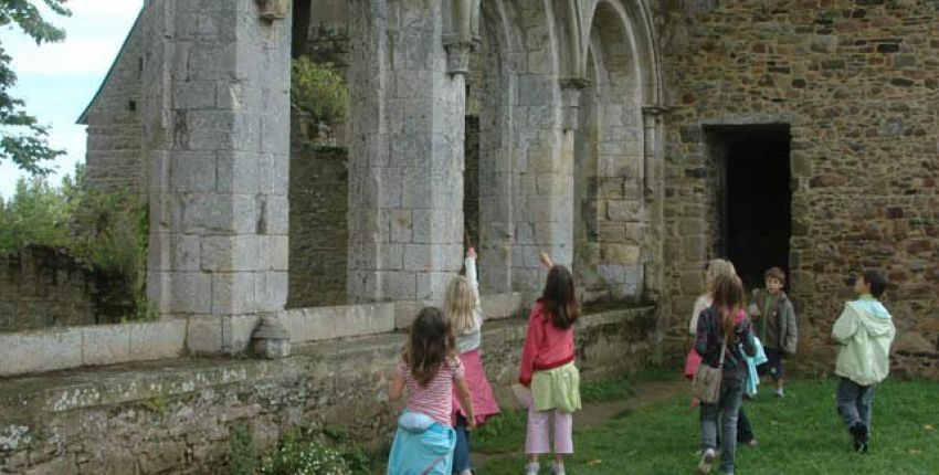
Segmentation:
[[(654, 328), (651, 308), (584, 316), (577, 328), (582, 373), (646, 367)], [(520, 318), (484, 329), (486, 369), (506, 404), (524, 336)], [(239, 426), (259, 448), (300, 422), (388, 442), (399, 407), (386, 388), (402, 341), (387, 334), (308, 345), (278, 361), (177, 359), (2, 380), (0, 472), (220, 473)]]

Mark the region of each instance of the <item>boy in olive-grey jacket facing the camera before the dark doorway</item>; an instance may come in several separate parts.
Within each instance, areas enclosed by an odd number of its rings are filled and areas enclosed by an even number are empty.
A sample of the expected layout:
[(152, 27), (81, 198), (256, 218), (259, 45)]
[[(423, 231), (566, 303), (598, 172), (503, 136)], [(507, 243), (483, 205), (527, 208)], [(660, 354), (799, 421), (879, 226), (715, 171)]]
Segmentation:
[(763, 274), (766, 288), (753, 291), (750, 304), (750, 315), (757, 326), (757, 337), (763, 344), (767, 362), (760, 366), (761, 373), (769, 371), (776, 383), (776, 395), (783, 395), (784, 356), (795, 353), (799, 335), (795, 328), (795, 312), (792, 303), (782, 287), (785, 285), (785, 273), (779, 267), (771, 267)]

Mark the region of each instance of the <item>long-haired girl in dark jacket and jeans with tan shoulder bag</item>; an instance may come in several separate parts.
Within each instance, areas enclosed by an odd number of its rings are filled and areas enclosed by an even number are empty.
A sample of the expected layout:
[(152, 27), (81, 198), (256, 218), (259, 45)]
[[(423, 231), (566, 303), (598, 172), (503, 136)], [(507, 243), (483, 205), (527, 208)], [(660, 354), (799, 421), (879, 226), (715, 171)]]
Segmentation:
[(740, 279), (718, 275), (714, 282), (713, 297), (714, 304), (698, 317), (695, 349), (704, 359), (701, 365), (721, 369), (720, 398), (714, 404), (701, 403), (701, 458), (698, 472), (709, 473), (717, 456), (717, 416), (720, 414), (724, 441), (720, 469), (729, 474), (734, 473), (737, 413), (743, 399), (743, 381), (747, 377), (745, 357), (756, 351), (750, 320), (742, 310), (743, 286)]

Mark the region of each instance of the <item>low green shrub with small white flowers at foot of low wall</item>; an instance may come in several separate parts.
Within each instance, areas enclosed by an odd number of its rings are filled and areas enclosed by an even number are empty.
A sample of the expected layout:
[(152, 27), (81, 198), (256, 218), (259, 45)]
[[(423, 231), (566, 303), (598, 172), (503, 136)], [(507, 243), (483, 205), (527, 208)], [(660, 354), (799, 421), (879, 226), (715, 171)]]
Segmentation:
[(341, 452), (318, 441), (303, 441), (302, 432), (291, 431), (277, 448), (261, 462), (265, 475), (351, 475)]

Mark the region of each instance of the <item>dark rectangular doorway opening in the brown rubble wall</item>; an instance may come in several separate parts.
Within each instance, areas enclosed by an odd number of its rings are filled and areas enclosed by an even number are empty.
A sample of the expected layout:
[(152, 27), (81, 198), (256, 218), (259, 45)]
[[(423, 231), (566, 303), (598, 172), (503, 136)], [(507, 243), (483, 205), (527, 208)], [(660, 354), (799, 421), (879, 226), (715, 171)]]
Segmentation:
[(792, 234), (791, 136), (788, 125), (708, 129), (720, 161), (718, 253), (729, 258), (747, 288), (763, 285), (763, 272), (789, 274)]

